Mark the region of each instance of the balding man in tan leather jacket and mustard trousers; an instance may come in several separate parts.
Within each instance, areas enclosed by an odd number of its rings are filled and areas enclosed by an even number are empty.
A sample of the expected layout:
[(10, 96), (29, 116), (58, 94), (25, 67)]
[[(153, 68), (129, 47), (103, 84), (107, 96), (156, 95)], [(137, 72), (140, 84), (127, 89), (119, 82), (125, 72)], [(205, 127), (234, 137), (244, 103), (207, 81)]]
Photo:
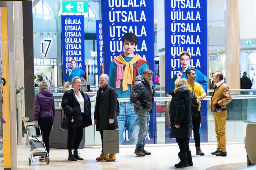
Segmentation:
[(213, 75), (214, 92), (211, 96), (211, 111), (214, 112), (215, 133), (217, 136), (217, 150), (211, 152), (216, 156), (227, 156), (226, 151), (226, 118), (228, 116), (227, 104), (231, 101), (229, 87), (224, 83), (223, 74), (217, 71)]

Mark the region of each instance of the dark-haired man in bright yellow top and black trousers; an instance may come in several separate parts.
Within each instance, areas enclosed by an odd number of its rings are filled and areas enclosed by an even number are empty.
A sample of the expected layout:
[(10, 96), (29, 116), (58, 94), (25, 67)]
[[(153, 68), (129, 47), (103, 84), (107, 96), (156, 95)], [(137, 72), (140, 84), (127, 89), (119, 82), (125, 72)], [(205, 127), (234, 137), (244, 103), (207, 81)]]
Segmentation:
[[(194, 132), (194, 140), (196, 144), (196, 155), (204, 155), (204, 152), (201, 151), (200, 147), (200, 133), (199, 133), (199, 128), (201, 124), (201, 113), (200, 113), (200, 107), (201, 107), (201, 100), (203, 100), (206, 97), (206, 93), (201, 86), (201, 84), (196, 83), (196, 72), (194, 68), (190, 68), (186, 70), (186, 76), (187, 76), (187, 83), (188, 86), (190, 87), (190, 93), (191, 93), (191, 99), (192, 99), (192, 107), (193, 107), (193, 100), (195, 101), (194, 103), (197, 104), (198, 106), (198, 112), (197, 108), (196, 111), (193, 111), (191, 109), (192, 113), (192, 126), (193, 126), (193, 132)], [(188, 138), (189, 141), (189, 138)], [(188, 153), (190, 154), (190, 153)]]

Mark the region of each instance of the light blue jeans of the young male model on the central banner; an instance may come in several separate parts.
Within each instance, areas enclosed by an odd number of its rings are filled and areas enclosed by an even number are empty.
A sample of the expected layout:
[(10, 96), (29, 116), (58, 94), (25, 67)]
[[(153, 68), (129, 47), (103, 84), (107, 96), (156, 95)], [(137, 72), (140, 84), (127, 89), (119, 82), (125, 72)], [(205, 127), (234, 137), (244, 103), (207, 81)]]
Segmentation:
[(135, 145), (137, 142), (137, 136), (139, 133), (138, 118), (134, 112), (134, 106), (132, 103), (119, 103), (119, 116), (117, 122), (119, 126), (119, 144), (122, 145), (124, 141), (124, 131), (127, 129), (129, 144)]

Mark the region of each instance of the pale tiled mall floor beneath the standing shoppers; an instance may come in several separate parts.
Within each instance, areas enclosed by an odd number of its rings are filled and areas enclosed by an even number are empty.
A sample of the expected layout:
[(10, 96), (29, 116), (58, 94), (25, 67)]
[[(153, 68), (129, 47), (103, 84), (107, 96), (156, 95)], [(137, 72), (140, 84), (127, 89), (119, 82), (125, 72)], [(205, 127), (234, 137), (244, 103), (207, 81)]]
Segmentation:
[[(247, 167), (246, 151), (243, 144), (228, 144), (226, 157), (217, 157), (210, 152), (215, 151), (216, 145), (202, 145), (205, 156), (195, 155), (195, 146), (190, 146), (194, 166), (184, 169), (215, 170), (215, 169), (242, 169)], [(138, 170), (162, 170), (176, 169), (174, 164), (178, 163), (178, 146), (151, 146), (145, 148), (152, 152), (152, 155), (137, 157), (134, 154), (134, 147), (121, 147), (120, 154), (116, 155), (116, 161), (96, 161), (101, 149), (81, 149), (80, 156), (83, 161), (68, 161), (68, 151), (64, 149), (50, 149), (50, 164), (46, 162), (31, 162), (28, 166), (29, 148), (28, 145), (18, 145), (18, 169), (138, 169)]]

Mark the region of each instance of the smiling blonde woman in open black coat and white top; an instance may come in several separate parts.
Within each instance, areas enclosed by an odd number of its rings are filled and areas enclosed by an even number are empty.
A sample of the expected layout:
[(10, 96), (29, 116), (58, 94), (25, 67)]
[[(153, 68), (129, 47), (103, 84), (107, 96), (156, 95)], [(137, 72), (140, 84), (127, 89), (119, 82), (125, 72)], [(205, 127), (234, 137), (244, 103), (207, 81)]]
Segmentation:
[[(81, 79), (79, 77), (74, 77), (72, 79), (71, 90), (64, 93), (61, 107), (65, 111), (66, 118), (70, 120), (69, 130), (68, 130), (68, 150), (70, 161), (83, 160), (78, 155), (78, 147), (83, 139), (83, 128), (92, 125), (91, 118), (91, 105), (90, 99), (87, 94), (80, 91), (82, 86)], [(74, 149), (74, 155), (72, 154), (72, 149)]]

